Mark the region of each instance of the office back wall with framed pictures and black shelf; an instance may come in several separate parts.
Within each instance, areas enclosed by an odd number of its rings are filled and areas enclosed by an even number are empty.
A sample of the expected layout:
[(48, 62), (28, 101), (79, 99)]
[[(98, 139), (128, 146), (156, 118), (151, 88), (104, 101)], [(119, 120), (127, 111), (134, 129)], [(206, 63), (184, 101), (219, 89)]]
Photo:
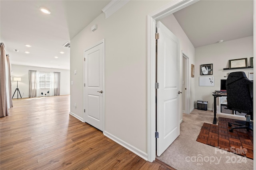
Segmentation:
[[(253, 57), (253, 37), (245, 37), (235, 39), (232, 41), (224, 41), (223, 43), (216, 43), (197, 47), (195, 50), (195, 107), (196, 101), (203, 99), (208, 101), (208, 109), (213, 110), (214, 98), (212, 92), (220, 90), (220, 79), (226, 79), (229, 72), (244, 71), (248, 77), (248, 72), (253, 72), (253, 68), (223, 70), (228, 68), (229, 60), (232, 59), (248, 59), (248, 66), (250, 66), (250, 57)], [(200, 65), (213, 64), (214, 86), (199, 86)]]

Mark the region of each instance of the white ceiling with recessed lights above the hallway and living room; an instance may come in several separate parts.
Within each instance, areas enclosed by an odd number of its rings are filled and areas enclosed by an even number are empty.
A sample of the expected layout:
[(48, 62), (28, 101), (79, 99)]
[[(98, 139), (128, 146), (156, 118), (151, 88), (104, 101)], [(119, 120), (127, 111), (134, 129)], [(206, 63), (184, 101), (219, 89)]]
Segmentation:
[[(0, 0), (0, 41), (4, 43), (12, 64), (70, 69), (70, 48), (62, 45), (70, 42), (102, 13), (109, 2)], [(40, 7), (48, 8), (51, 14), (40, 12)], [(25, 44), (32, 47), (26, 47)], [(30, 53), (26, 54), (25, 51)], [(60, 51), (64, 54), (60, 54)]]

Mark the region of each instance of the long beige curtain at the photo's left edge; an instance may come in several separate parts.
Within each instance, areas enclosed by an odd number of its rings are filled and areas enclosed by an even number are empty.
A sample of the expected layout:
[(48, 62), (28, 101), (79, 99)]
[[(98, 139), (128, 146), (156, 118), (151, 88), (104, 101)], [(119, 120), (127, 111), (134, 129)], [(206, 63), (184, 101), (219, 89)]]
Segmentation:
[(6, 55), (4, 44), (0, 43), (0, 46), (0, 117), (5, 117), (12, 107), (11, 73), (9, 56)]

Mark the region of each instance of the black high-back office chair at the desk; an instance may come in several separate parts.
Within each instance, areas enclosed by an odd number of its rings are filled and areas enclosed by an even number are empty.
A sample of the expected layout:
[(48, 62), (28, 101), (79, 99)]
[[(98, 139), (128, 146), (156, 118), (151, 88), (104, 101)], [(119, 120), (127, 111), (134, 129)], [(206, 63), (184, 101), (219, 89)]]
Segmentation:
[(246, 129), (253, 131), (253, 81), (249, 80), (244, 72), (231, 72), (226, 81), (227, 89), (227, 107), (228, 109), (246, 113), (246, 121), (236, 121), (236, 123), (228, 123), (233, 129)]

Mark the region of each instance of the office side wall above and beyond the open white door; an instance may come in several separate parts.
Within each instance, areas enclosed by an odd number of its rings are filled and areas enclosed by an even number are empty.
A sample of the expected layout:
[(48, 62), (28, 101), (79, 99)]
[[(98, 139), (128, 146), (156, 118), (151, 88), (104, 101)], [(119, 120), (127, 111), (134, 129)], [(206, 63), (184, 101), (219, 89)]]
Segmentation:
[[(188, 67), (189, 70), (189, 87), (188, 91), (188, 99), (189, 99), (189, 111), (191, 112), (194, 109), (194, 84), (195, 78), (191, 77), (191, 64), (195, 63), (195, 48), (188, 39), (186, 33), (183, 31), (182, 27), (174, 17), (174, 15), (167, 16), (160, 20), (174, 35), (176, 35), (180, 41), (180, 50), (189, 58)], [(180, 61), (182, 61), (182, 52), (180, 53)], [(180, 79), (182, 80), (182, 78)], [(182, 117), (182, 115), (181, 115)]]

